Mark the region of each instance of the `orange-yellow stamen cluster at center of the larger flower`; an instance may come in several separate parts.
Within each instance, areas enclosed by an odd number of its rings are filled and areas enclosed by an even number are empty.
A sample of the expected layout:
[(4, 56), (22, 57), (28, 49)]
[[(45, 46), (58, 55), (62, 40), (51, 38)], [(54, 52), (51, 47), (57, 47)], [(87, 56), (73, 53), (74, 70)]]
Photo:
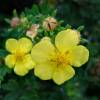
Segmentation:
[(69, 53), (56, 53), (56, 55), (51, 59), (51, 62), (55, 63), (57, 66), (66, 66), (70, 64)]

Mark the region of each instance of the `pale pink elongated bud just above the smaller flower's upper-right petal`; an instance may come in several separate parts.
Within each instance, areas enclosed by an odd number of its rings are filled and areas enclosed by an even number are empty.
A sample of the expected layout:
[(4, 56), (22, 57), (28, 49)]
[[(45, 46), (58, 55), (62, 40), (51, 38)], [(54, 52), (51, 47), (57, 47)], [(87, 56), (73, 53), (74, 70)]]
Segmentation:
[(33, 24), (31, 28), (26, 32), (26, 36), (33, 39), (38, 33), (39, 24)]

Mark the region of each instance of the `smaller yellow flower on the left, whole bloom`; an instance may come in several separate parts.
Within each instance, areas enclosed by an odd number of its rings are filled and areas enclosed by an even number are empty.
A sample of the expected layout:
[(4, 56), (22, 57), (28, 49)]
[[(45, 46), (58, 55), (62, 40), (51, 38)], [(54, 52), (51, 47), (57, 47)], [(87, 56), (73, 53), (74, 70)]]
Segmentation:
[(14, 68), (17, 75), (24, 76), (34, 68), (35, 63), (29, 53), (32, 49), (32, 42), (28, 38), (8, 39), (6, 49), (11, 53), (5, 58), (5, 64)]

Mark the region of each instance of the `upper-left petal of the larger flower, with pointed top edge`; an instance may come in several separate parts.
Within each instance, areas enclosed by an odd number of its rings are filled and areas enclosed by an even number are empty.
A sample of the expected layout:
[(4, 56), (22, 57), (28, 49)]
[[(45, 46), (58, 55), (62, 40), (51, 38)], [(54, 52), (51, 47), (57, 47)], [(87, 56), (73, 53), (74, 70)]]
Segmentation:
[(37, 63), (45, 62), (50, 59), (51, 55), (54, 53), (54, 49), (50, 39), (45, 37), (33, 46), (31, 52), (32, 58)]

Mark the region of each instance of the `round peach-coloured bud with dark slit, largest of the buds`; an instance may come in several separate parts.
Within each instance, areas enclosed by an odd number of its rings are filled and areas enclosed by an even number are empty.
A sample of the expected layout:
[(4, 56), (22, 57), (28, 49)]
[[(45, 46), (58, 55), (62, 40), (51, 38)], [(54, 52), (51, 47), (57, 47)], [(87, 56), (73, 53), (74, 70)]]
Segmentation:
[(43, 22), (43, 28), (47, 31), (54, 30), (58, 25), (58, 22), (53, 17), (48, 17)]

